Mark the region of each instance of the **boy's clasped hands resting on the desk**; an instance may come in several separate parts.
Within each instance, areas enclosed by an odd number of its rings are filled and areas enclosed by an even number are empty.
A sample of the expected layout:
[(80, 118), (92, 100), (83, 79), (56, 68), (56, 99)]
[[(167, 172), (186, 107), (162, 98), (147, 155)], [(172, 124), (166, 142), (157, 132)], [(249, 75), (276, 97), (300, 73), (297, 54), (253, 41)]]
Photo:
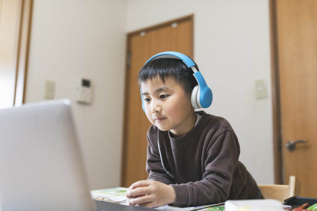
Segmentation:
[(153, 180), (141, 180), (133, 183), (126, 192), (129, 205), (159, 207), (175, 202), (175, 191), (172, 186)]

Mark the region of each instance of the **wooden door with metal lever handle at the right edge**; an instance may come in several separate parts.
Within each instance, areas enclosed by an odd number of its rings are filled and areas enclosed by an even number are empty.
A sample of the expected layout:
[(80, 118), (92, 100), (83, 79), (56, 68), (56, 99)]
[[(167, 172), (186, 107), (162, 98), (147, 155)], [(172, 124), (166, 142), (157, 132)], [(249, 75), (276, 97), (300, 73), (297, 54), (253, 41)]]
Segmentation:
[(276, 0), (276, 18), (284, 183), (294, 175), (317, 198), (317, 1)]

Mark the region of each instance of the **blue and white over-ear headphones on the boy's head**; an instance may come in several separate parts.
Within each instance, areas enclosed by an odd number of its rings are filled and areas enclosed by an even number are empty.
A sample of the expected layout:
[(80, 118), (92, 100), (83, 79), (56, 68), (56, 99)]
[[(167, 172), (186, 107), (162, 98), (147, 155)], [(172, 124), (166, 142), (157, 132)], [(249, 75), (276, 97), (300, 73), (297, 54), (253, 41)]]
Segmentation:
[[(194, 108), (208, 108), (211, 105), (211, 102), (212, 102), (211, 89), (207, 86), (206, 81), (203, 75), (200, 73), (200, 71), (197, 71), (195, 67), (195, 62), (192, 61), (191, 58), (179, 52), (165, 51), (165, 52), (161, 52), (159, 54), (152, 56), (148, 61), (146, 61), (146, 63), (153, 59), (159, 59), (159, 58), (170, 58), (170, 59), (182, 60), (187, 67), (190, 67), (193, 70), (194, 72), (193, 75), (198, 83), (198, 85), (195, 86), (193, 88), (193, 91), (191, 92), (191, 105)], [(142, 100), (142, 108), (143, 108), (143, 111), (145, 112), (141, 87), (140, 87), (140, 93), (141, 93), (141, 100)]]

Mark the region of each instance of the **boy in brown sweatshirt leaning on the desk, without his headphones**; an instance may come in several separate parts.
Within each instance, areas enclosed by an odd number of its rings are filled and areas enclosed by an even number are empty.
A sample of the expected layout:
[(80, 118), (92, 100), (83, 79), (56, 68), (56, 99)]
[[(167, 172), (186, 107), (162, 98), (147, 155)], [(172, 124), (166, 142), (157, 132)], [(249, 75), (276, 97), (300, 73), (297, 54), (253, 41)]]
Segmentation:
[(153, 125), (147, 132), (149, 176), (129, 187), (130, 205), (188, 207), (259, 198), (255, 180), (238, 161), (240, 147), (230, 124), (194, 111), (192, 74), (183, 61), (171, 58), (150, 60), (139, 71), (144, 111)]

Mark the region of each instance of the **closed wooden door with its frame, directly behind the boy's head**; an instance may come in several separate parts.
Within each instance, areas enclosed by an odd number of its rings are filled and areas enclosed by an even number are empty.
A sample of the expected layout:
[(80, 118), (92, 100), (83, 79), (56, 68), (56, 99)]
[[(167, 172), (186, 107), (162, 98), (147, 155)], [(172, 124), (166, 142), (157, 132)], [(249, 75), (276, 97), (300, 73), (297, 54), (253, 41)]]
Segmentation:
[(145, 180), (146, 132), (151, 123), (142, 110), (137, 83), (139, 69), (154, 54), (178, 51), (193, 57), (193, 16), (139, 30), (127, 36), (125, 119), (121, 185)]

